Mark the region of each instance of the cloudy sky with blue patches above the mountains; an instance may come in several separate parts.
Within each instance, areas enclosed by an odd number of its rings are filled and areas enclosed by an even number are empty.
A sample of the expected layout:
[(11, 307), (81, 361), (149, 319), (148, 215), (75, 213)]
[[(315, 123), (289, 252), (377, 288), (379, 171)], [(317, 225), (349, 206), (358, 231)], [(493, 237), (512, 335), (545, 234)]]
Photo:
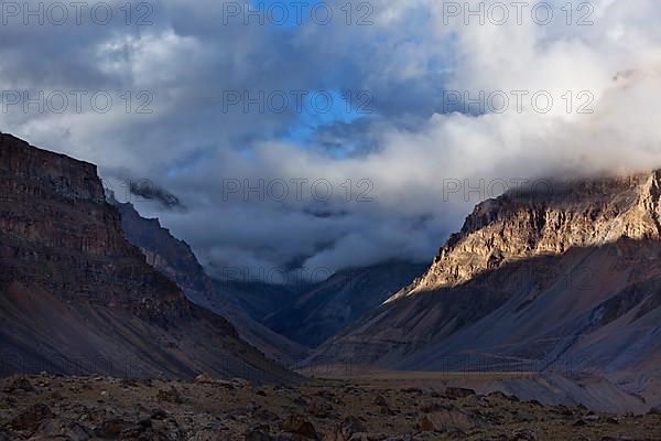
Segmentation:
[(658, 0), (513, 3), (3, 2), (0, 130), (218, 278), (431, 261), (481, 200), (661, 166)]

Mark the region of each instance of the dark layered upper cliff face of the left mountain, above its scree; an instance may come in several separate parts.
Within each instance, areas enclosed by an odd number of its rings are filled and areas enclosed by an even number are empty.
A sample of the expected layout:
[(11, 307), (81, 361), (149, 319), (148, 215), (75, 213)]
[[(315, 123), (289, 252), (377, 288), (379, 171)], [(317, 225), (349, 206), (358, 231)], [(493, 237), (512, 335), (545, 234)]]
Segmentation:
[(0, 283), (35, 283), (153, 320), (189, 314), (176, 286), (124, 240), (95, 165), (2, 135), (0, 193)]

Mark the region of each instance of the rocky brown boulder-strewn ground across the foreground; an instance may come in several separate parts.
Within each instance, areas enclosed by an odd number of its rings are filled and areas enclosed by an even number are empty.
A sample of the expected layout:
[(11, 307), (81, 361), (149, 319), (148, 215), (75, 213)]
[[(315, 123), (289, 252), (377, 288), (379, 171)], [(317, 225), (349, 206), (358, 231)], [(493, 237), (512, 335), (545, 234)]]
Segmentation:
[(310, 380), (0, 380), (0, 440), (661, 440), (643, 416), (543, 407), (502, 394)]

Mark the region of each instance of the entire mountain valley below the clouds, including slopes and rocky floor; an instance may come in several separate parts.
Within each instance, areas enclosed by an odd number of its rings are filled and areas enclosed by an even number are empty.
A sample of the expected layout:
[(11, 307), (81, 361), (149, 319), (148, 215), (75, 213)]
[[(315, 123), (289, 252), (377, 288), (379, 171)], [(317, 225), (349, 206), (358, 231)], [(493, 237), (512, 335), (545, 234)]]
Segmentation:
[(299, 287), (213, 280), (93, 164), (1, 135), (0, 173), (0, 439), (661, 439), (659, 172)]

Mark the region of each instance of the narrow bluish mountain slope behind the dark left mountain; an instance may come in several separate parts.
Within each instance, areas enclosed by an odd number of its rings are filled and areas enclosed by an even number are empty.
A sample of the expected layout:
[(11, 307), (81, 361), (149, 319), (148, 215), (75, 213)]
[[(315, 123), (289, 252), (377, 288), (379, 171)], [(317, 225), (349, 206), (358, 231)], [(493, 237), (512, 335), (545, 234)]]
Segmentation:
[(139, 247), (148, 263), (174, 281), (189, 301), (229, 320), (242, 340), (282, 365), (291, 365), (306, 355), (307, 348), (277, 334), (241, 311), (236, 305), (238, 302), (232, 301), (236, 292), (229, 295), (214, 284), (188, 244), (172, 236), (158, 219), (141, 217), (132, 204), (119, 203), (113, 197), (109, 200), (121, 214), (128, 241)]

